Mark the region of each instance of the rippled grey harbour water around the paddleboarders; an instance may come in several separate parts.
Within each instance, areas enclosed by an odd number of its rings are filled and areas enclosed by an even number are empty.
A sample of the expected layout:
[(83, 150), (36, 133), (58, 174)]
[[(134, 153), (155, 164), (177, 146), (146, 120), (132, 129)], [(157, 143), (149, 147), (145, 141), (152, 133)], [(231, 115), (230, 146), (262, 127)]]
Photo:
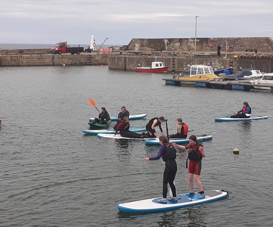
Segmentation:
[[(170, 76), (107, 66), (0, 67), (0, 226), (272, 226), (272, 94), (166, 86), (161, 79)], [(164, 163), (143, 161), (159, 146), (84, 135), (88, 118), (97, 116), (89, 98), (110, 116), (123, 105), (148, 114), (131, 127), (165, 116), (174, 133), (182, 117), (194, 134), (212, 134), (202, 143), (200, 179), (204, 190), (225, 189), (229, 198), (167, 212), (119, 212), (119, 203), (162, 195)], [(214, 122), (244, 101), (253, 115), (269, 118)], [(189, 190), (186, 158), (177, 153), (178, 193)]]

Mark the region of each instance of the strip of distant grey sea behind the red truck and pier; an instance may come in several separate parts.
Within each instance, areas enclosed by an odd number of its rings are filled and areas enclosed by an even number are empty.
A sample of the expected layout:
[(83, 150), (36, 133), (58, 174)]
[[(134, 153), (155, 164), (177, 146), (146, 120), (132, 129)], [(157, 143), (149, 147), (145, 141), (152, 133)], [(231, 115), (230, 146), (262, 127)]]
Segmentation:
[[(55, 45), (53, 44), (31, 44), (31, 43), (0, 43), (0, 49), (3, 50), (17, 50), (17, 49), (46, 49), (52, 48)], [(90, 44), (69, 44), (70, 47), (80, 45), (83, 48), (87, 48)], [(96, 47), (98, 48), (100, 44), (97, 44)], [(104, 48), (108, 47), (121, 47), (121, 44), (103, 44)], [(92, 48), (92, 47), (91, 47)]]

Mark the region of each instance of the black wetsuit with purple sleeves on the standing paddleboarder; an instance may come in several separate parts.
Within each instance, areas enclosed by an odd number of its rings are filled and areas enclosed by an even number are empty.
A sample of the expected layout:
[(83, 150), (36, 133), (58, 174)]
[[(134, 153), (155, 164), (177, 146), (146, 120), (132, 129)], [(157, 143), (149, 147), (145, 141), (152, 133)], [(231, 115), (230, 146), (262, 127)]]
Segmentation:
[(168, 192), (168, 183), (173, 192), (173, 197), (176, 197), (176, 188), (174, 185), (174, 178), (177, 172), (176, 164), (176, 149), (172, 145), (162, 145), (159, 149), (159, 152), (156, 157), (151, 157), (149, 160), (159, 160), (162, 156), (163, 161), (165, 162), (165, 170), (163, 174), (163, 198), (167, 197)]

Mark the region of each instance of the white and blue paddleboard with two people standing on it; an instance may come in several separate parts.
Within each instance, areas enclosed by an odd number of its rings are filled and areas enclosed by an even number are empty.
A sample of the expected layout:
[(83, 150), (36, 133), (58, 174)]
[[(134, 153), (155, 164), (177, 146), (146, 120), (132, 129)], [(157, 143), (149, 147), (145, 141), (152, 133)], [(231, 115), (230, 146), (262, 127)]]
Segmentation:
[(168, 200), (168, 198), (171, 197), (167, 196), (167, 203), (157, 202), (157, 200), (162, 199), (162, 197), (159, 197), (135, 202), (121, 203), (118, 205), (118, 209), (132, 213), (156, 212), (177, 209), (186, 206), (194, 206), (207, 202), (214, 202), (217, 200), (226, 199), (228, 197), (228, 192), (225, 190), (210, 190), (204, 192), (205, 198), (202, 199), (198, 199), (198, 194), (195, 194), (194, 196), (180, 194), (177, 195), (177, 202)]

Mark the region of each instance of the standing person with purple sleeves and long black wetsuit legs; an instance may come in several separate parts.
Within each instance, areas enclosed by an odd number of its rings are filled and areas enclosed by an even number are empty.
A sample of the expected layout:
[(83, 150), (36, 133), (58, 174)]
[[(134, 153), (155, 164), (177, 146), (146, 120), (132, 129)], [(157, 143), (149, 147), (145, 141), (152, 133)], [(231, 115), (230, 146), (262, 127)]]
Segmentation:
[(163, 175), (163, 199), (157, 200), (157, 202), (167, 203), (167, 191), (168, 191), (168, 183), (173, 193), (173, 197), (168, 198), (171, 201), (177, 201), (176, 198), (176, 187), (174, 185), (174, 178), (177, 172), (177, 164), (176, 164), (176, 149), (170, 144), (167, 137), (160, 136), (159, 137), (160, 149), (156, 157), (143, 158), (144, 161), (149, 160), (159, 160), (162, 157), (165, 162), (165, 170)]

